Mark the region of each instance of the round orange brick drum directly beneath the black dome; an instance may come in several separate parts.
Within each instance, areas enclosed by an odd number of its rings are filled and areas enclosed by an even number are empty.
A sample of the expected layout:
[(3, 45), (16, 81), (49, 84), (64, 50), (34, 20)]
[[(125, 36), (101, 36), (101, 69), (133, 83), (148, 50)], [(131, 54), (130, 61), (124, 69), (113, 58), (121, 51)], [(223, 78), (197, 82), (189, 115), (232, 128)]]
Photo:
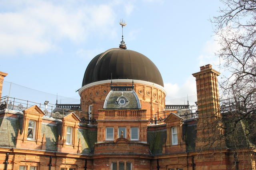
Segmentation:
[[(113, 83), (113, 86), (131, 86), (130, 83)], [(147, 118), (152, 114), (161, 112), (165, 106), (165, 92), (156, 86), (134, 83), (134, 91), (139, 97), (142, 109), (147, 110)], [(104, 100), (110, 92), (110, 83), (98, 84), (84, 89), (81, 93), (82, 111), (88, 112), (92, 104), (92, 117), (98, 119), (98, 110), (103, 109)]]

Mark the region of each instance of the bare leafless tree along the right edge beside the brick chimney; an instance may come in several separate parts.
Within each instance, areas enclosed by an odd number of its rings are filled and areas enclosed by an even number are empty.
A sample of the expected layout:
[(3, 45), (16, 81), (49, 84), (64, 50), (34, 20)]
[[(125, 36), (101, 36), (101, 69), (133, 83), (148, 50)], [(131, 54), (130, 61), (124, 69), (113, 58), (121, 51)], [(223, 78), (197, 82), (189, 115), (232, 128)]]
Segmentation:
[[(216, 56), (224, 76), (220, 79), (222, 118), (214, 122), (216, 134), (211, 141), (225, 141), (234, 152), (238, 169), (241, 151), (250, 151), (255, 160), (256, 148), (256, 0), (221, 0), (219, 16), (212, 18), (220, 44)], [(213, 143), (213, 142), (212, 142)], [(210, 142), (210, 145), (212, 145)], [(238, 155), (240, 154), (240, 155)], [(252, 158), (253, 157), (253, 158)], [(245, 167), (243, 167), (245, 168)]]

